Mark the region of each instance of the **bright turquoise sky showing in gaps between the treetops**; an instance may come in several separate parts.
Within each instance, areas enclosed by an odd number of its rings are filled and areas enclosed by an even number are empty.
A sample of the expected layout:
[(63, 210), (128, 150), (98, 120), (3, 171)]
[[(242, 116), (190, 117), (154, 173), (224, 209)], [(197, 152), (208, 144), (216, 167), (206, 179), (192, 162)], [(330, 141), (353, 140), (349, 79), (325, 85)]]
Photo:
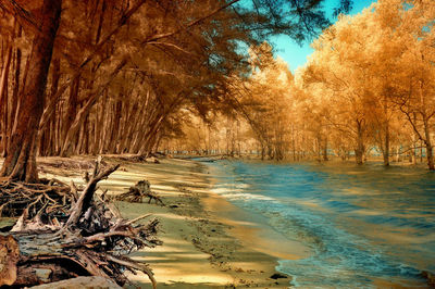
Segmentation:
[[(333, 8), (337, 1), (338, 0), (326, 0), (326, 11), (333, 11)], [(353, 9), (350, 14), (357, 14), (376, 1), (377, 0), (353, 0)], [(303, 46), (299, 46), (287, 36), (274, 37), (272, 42), (276, 50), (275, 54), (279, 55), (288, 63), (291, 72), (295, 72), (298, 66), (303, 65), (307, 62), (307, 56), (313, 52), (310, 43), (303, 43)]]

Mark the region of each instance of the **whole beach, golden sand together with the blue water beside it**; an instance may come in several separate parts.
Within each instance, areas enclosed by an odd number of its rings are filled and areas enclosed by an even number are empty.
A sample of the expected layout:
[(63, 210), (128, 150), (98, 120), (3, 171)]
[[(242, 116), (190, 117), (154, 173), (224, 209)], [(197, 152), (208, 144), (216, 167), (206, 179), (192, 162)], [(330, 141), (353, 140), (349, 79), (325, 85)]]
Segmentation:
[[(158, 288), (433, 285), (433, 223), (424, 214), (435, 179), (428, 173), (378, 164), (153, 163), (132, 156), (103, 156), (103, 165), (121, 167), (97, 192), (116, 196), (146, 179), (160, 196), (164, 205), (113, 201), (124, 218), (160, 222), (162, 244), (130, 254), (152, 268)], [(39, 158), (39, 175), (80, 187), (94, 159)], [(415, 203), (409, 208), (414, 214), (399, 214), (403, 203)], [(12, 221), (2, 218), (0, 226)], [(146, 275), (128, 278), (125, 288), (152, 288)]]

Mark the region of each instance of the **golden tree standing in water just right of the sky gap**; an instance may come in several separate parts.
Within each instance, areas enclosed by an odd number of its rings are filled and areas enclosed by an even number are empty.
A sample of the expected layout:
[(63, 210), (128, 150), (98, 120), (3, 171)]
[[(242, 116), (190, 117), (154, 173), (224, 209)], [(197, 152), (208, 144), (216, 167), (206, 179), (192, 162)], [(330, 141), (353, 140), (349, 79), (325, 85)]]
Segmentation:
[(350, 33), (360, 30), (353, 30), (349, 20), (343, 17), (314, 41), (315, 52), (303, 77), (307, 84), (323, 86), (315, 91), (331, 111), (325, 115), (328, 125), (349, 138), (356, 162), (362, 164), (368, 141), (365, 104), (370, 97), (371, 75), (358, 59), (357, 51), (362, 45), (353, 42), (357, 35), (350, 37)]

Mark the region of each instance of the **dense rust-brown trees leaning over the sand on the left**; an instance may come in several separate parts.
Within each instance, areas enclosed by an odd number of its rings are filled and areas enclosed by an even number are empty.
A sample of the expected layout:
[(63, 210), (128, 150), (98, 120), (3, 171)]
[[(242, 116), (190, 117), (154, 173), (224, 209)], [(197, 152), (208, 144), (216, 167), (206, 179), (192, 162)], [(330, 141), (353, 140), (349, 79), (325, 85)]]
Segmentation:
[[(21, 29), (17, 41), (33, 37), (32, 50), (11, 42), (2, 54), (9, 64), (2, 66), (1, 98), (12, 91), (12, 101), (1, 110), (7, 115), (1, 174), (37, 180), (38, 152), (147, 153), (179, 110), (203, 116), (214, 106), (229, 108), (228, 75), (249, 74), (244, 46), (276, 34), (301, 41), (330, 24), (322, 1), (239, 2), (64, 0), (61, 18), (54, 14), (60, 9), (45, 10), (60, 8), (60, 1), (0, 1), (10, 20), (2, 40)], [(350, 8), (348, 0), (340, 3), (341, 10)], [(28, 55), (24, 73), (22, 54)], [(112, 115), (122, 115), (122, 124)], [(135, 126), (113, 133), (135, 118), (140, 118)]]

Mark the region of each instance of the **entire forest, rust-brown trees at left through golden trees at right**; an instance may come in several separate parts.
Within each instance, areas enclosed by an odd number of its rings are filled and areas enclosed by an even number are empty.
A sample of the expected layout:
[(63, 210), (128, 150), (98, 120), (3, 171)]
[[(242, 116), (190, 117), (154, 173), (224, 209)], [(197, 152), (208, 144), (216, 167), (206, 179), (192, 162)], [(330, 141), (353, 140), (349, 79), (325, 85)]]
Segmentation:
[[(201, 134), (209, 127), (217, 138), (224, 127), (225, 137), (192, 149), (228, 153), (241, 141), (263, 158), (352, 154), (357, 163), (374, 151), (385, 165), (419, 154), (434, 169), (431, 1), (378, 1), (339, 15), (295, 75), (264, 40), (320, 33), (330, 23), (309, 3), (290, 17), (283, 11), (299, 1), (63, 1), (55, 22), (38, 23), (45, 11), (34, 2), (1, 4), (3, 176), (36, 179), (35, 155), (147, 154), (185, 150), (195, 137), (210, 142), (188, 131), (198, 118)], [(40, 52), (35, 36), (47, 45)], [(24, 97), (30, 91), (40, 97)]]

